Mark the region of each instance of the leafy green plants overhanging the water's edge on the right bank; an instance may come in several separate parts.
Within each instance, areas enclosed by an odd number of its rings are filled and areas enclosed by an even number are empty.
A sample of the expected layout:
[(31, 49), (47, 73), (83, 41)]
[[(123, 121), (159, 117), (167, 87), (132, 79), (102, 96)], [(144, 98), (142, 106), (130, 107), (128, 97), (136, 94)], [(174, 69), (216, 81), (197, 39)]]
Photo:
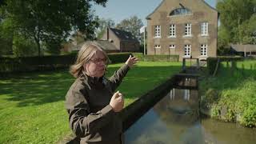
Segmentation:
[(226, 122), (240, 122), (244, 126), (256, 126), (256, 80), (246, 78), (238, 87), (219, 91), (218, 100), (212, 102), (211, 117)]

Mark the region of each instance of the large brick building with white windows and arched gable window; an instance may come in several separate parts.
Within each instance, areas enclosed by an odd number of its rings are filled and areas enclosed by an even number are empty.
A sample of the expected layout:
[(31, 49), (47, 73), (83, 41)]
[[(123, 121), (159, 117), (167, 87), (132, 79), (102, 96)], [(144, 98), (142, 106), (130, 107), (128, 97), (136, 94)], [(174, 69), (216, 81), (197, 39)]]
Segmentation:
[(216, 57), (218, 11), (203, 0), (163, 0), (146, 19), (147, 54)]

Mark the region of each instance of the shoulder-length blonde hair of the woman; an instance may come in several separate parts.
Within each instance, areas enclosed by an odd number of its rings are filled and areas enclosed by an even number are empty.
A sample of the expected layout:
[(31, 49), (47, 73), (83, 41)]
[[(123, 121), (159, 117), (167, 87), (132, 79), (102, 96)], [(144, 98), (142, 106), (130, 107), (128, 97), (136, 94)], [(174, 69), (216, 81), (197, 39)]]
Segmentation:
[(110, 59), (106, 52), (102, 50), (102, 46), (99, 46), (97, 42), (86, 42), (81, 50), (79, 50), (76, 62), (74, 62), (74, 65), (70, 66), (70, 74), (72, 74), (74, 78), (80, 77), (84, 72), (84, 64), (89, 62), (90, 58), (92, 58), (98, 50), (102, 51), (107, 61), (106, 64), (108, 64)]

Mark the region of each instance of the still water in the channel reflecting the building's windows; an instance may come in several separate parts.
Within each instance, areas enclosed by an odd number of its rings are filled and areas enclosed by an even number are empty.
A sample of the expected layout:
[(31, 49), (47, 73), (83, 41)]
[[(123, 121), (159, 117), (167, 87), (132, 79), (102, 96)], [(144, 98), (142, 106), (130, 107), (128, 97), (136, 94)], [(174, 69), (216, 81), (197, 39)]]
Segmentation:
[(126, 130), (126, 144), (256, 143), (255, 129), (200, 118), (198, 99), (198, 90), (170, 90)]

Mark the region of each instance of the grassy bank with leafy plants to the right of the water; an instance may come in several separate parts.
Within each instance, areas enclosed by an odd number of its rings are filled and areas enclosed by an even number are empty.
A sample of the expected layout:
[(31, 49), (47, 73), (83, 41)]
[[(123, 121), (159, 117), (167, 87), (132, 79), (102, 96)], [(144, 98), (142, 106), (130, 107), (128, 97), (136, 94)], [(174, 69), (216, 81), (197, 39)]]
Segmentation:
[(256, 126), (256, 60), (222, 62), (217, 77), (200, 82), (202, 106), (227, 122)]

